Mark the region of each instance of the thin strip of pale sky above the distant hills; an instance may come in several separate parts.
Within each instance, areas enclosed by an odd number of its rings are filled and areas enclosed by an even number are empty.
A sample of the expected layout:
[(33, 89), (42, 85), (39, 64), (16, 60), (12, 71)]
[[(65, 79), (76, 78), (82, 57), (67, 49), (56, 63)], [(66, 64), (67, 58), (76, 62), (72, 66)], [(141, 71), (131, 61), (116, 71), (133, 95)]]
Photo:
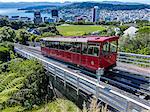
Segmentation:
[(121, 2), (139, 2), (150, 4), (150, 0), (0, 0), (0, 2), (82, 2), (82, 1), (121, 1)]

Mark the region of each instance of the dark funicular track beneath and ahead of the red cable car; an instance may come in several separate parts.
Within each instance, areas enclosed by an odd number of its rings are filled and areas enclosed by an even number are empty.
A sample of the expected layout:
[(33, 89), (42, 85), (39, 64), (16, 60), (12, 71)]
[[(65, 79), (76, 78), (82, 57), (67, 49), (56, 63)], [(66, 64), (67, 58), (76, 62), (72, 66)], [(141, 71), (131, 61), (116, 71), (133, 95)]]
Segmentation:
[[(25, 47), (26, 50), (29, 50), (32, 53), (41, 55), (40, 50), (37, 50), (32, 47)], [(85, 69), (79, 68), (77, 66), (50, 58), (50, 61), (59, 62), (72, 69), (73, 71), (84, 75), (90, 76), (94, 81), (97, 81), (96, 73), (89, 72)], [(150, 101), (150, 87), (149, 80), (143, 76), (138, 76), (138, 74), (133, 74), (130, 72), (124, 72), (118, 69), (107, 71), (104, 75), (100, 77), (100, 80), (104, 83), (115, 86), (121, 90), (125, 90), (129, 93), (132, 93), (142, 99)]]

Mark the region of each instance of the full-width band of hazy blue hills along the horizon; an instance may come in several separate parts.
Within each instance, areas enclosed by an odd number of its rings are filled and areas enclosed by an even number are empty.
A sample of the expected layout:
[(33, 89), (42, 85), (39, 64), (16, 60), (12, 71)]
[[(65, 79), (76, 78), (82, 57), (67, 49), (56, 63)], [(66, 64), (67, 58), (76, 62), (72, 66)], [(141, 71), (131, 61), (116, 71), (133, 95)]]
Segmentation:
[(18, 8), (22, 10), (33, 10), (33, 9), (75, 9), (75, 8), (93, 8), (98, 6), (99, 9), (106, 10), (136, 10), (136, 9), (150, 9), (150, 5), (141, 3), (128, 3), (118, 1), (103, 1), (103, 2), (0, 2), (0, 8)]

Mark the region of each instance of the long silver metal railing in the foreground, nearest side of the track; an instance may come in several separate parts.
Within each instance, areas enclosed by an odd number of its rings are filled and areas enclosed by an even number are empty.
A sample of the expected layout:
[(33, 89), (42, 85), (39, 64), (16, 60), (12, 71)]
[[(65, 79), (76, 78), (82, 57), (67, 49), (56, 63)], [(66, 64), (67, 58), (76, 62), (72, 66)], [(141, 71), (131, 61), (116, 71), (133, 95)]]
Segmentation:
[(109, 104), (120, 112), (142, 112), (143, 110), (150, 110), (149, 103), (143, 104), (140, 101), (129, 98), (128, 96), (125, 96), (114, 90), (106, 88), (99, 83), (93, 82), (83, 76), (80, 76), (77, 73), (46, 61), (45, 59), (34, 55), (29, 51), (21, 49), (20, 47), (15, 46), (15, 51), (25, 58), (39, 60), (48, 71), (64, 80), (64, 83), (67, 82), (74, 85), (76, 87), (77, 94), (79, 90), (93, 94), (98, 99)]

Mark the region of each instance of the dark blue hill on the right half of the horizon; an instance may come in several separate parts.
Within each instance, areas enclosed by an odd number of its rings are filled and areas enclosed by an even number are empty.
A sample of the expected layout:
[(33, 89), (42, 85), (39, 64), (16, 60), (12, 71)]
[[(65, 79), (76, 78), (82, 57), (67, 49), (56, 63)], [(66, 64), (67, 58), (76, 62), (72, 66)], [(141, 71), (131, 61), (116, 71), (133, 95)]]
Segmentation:
[[(122, 2), (121, 2), (122, 3)], [(147, 4), (111, 4), (105, 2), (77, 2), (62, 7), (63, 9), (75, 9), (75, 8), (93, 8), (98, 6), (99, 9), (106, 10), (137, 10), (137, 9), (150, 9), (150, 5)]]

